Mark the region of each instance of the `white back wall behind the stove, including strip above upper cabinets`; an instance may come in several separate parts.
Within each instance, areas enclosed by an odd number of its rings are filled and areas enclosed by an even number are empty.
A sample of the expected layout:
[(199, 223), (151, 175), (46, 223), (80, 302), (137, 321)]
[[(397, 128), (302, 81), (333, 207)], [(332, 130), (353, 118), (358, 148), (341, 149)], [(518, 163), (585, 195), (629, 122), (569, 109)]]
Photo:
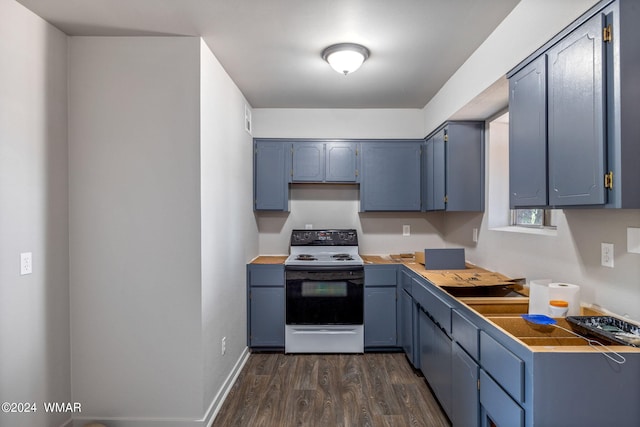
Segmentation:
[[(415, 109), (255, 109), (254, 136), (279, 138), (423, 138), (422, 114)], [(357, 185), (292, 184), (291, 212), (259, 212), (260, 254), (289, 252), (294, 228), (355, 228), (368, 254), (413, 252), (443, 246), (439, 213), (359, 213)], [(402, 226), (411, 236), (402, 236)]]

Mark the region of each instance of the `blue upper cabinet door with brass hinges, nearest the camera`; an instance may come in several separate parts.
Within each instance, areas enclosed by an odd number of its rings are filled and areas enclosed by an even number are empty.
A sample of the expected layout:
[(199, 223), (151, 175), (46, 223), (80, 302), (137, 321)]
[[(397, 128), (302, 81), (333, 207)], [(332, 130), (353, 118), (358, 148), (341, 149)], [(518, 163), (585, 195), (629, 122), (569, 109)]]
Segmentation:
[(547, 53), (551, 206), (606, 202), (603, 28), (598, 14)]

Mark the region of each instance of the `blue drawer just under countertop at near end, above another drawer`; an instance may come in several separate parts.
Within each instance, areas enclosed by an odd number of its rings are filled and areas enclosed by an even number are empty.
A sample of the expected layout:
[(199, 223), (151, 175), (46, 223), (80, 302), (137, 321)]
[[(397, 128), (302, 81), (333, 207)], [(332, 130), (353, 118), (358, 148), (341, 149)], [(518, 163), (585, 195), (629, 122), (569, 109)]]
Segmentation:
[(517, 401), (524, 402), (524, 362), (480, 331), (480, 364)]

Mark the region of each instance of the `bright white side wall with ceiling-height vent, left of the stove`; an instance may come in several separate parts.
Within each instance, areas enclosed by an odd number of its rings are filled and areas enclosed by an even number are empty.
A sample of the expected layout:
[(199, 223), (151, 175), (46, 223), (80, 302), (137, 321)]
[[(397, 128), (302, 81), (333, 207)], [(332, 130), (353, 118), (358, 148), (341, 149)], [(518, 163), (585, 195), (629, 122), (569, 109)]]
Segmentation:
[(207, 409), (219, 403), (218, 392), (246, 348), (246, 264), (258, 254), (258, 229), (253, 215), (253, 140), (244, 130), (247, 103), (204, 42), (200, 78), (203, 404)]

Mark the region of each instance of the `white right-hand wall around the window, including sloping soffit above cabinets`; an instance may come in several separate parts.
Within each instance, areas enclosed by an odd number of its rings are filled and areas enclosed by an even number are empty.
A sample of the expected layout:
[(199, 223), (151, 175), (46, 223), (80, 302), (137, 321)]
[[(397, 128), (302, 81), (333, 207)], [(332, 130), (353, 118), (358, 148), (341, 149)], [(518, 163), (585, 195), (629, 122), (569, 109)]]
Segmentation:
[[(433, 129), (448, 116), (501, 78), (543, 45), (596, 0), (523, 0), (425, 107), (425, 129)], [(553, 13), (550, 13), (553, 11)], [(496, 128), (499, 128), (497, 126)], [(494, 129), (504, 143), (504, 130)], [(491, 149), (487, 152), (490, 153)], [(505, 179), (504, 158), (487, 156), (487, 202), (504, 203), (492, 193), (491, 179)], [(504, 191), (504, 189), (503, 189)], [(491, 210), (491, 207), (488, 208)], [(448, 214), (448, 246), (465, 246), (467, 258), (511, 276), (549, 277), (582, 286), (582, 300), (640, 320), (640, 259), (626, 253), (626, 228), (638, 227), (637, 210), (567, 210), (557, 215), (556, 236), (492, 231), (496, 215)], [(504, 221), (498, 218), (498, 222)], [(472, 229), (479, 228), (478, 244)], [(600, 243), (616, 247), (614, 269), (600, 266)]]

